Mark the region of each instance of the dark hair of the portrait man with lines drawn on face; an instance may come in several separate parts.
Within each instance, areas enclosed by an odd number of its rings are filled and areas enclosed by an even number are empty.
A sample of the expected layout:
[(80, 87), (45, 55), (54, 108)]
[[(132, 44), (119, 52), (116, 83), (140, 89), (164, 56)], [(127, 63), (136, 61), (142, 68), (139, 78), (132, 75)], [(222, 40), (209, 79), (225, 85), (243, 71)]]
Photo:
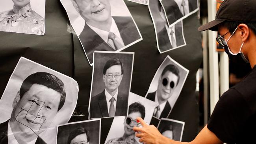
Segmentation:
[(33, 84), (44, 85), (59, 92), (61, 94), (61, 98), (59, 101), (58, 111), (63, 107), (66, 99), (66, 92), (64, 89), (64, 83), (59, 78), (47, 72), (36, 72), (31, 74), (23, 81), (20, 87), (20, 99)]

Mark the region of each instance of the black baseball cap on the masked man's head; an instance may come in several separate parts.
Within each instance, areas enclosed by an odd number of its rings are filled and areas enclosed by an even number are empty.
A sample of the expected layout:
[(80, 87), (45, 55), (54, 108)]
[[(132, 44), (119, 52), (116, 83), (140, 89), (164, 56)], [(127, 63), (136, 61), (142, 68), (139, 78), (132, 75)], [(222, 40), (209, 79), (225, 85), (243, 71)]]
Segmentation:
[(256, 23), (256, 0), (224, 0), (215, 20), (198, 28), (198, 31), (218, 31), (218, 24), (224, 21)]

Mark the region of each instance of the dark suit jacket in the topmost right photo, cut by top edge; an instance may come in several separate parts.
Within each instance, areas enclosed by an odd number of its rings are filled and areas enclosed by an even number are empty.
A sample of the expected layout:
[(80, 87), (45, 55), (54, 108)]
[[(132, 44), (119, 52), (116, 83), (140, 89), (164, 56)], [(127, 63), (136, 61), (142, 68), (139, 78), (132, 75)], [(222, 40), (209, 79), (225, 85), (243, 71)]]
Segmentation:
[[(189, 12), (197, 9), (197, 0), (188, 0)], [(167, 20), (169, 24), (173, 24), (176, 20), (182, 18), (184, 15), (180, 12), (178, 4), (174, 0), (162, 0), (161, 3), (165, 9)]]

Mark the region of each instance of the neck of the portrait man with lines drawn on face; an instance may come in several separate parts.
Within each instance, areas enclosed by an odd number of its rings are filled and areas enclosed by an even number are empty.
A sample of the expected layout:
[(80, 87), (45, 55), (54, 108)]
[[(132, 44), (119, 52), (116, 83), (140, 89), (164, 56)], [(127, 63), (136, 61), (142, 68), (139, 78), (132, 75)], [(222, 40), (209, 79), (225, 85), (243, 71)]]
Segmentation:
[(29, 142), (31, 142), (32, 140), (35, 140), (35, 138), (37, 138), (37, 135), (33, 132), (28, 132), (28, 133), (24, 133), (22, 132), (18, 126), (15, 125), (15, 120), (10, 120), (10, 127), (11, 127), (11, 131), (15, 137), (15, 139), (17, 140), (17, 142), (19, 142), (19, 144), (27, 144)]

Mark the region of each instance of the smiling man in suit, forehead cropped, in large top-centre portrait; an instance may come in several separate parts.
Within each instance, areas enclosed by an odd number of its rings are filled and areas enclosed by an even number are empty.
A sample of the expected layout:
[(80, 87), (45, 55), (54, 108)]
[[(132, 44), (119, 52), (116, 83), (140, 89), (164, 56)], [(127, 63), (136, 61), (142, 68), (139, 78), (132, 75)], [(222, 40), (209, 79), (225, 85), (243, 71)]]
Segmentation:
[[(109, 0), (71, 0), (76, 11), (85, 21), (78, 35), (89, 63), (93, 63), (93, 52), (120, 51), (141, 39), (139, 30), (131, 16), (112, 16)], [(124, 4), (123, 9), (126, 8)]]

